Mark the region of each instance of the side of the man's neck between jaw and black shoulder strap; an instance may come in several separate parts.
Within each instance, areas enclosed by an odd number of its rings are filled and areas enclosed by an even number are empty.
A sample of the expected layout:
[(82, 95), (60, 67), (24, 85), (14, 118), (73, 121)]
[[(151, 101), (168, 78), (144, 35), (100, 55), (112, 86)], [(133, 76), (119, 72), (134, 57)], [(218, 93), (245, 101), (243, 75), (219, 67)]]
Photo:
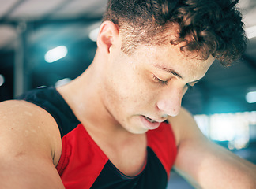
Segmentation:
[[(66, 100), (73, 113), (86, 129), (98, 132), (124, 132), (119, 123), (108, 112), (104, 104), (102, 81), (104, 80), (104, 61), (96, 58), (92, 64), (72, 82), (58, 87), (58, 92)], [(126, 132), (126, 131), (125, 131)]]

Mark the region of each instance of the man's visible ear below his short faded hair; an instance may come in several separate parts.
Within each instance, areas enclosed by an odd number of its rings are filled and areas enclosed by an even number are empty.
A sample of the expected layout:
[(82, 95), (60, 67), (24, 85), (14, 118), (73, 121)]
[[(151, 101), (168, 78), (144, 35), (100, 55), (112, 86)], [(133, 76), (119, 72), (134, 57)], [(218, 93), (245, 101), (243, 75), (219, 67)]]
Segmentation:
[(104, 21), (100, 25), (100, 31), (97, 38), (97, 46), (100, 50), (109, 53), (110, 48), (119, 40), (119, 27), (111, 21)]

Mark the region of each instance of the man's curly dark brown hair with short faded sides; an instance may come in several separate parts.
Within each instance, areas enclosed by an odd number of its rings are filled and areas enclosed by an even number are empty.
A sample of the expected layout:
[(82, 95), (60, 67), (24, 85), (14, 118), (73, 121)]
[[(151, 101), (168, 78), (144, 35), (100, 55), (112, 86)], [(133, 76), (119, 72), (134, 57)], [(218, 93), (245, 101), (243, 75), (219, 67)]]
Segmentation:
[[(247, 47), (239, 0), (109, 0), (103, 20), (122, 31), (122, 51), (138, 44), (178, 45), (185, 54), (210, 55), (224, 65), (238, 59)], [(177, 35), (170, 27), (178, 26)], [(171, 35), (171, 36), (170, 36)], [(168, 39), (168, 40), (167, 40)]]

